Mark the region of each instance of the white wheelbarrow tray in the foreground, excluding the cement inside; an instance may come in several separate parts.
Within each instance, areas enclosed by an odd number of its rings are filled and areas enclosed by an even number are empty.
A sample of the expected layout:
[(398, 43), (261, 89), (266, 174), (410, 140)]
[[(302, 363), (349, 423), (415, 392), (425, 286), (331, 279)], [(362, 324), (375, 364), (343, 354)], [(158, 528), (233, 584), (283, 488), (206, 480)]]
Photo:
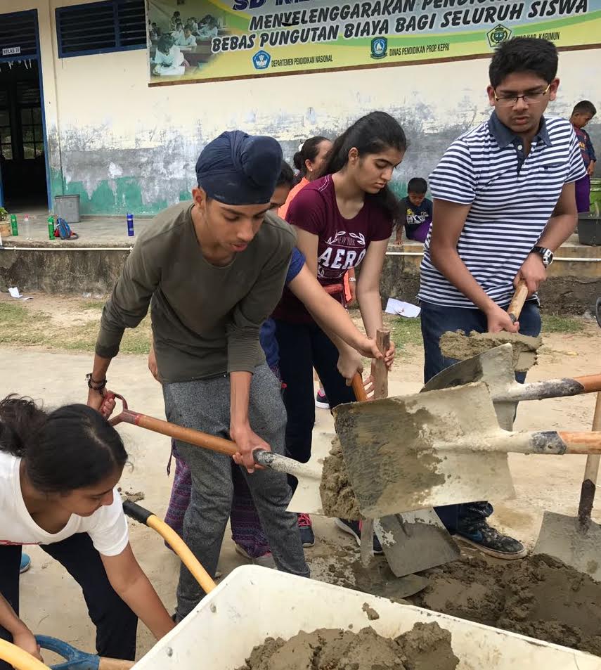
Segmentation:
[[(369, 621), (363, 603), (380, 618)], [(256, 566), (231, 572), (135, 670), (235, 670), (267, 637), (352, 624), (394, 638), (418, 621), (451, 631), (459, 670), (601, 670), (600, 657)]]

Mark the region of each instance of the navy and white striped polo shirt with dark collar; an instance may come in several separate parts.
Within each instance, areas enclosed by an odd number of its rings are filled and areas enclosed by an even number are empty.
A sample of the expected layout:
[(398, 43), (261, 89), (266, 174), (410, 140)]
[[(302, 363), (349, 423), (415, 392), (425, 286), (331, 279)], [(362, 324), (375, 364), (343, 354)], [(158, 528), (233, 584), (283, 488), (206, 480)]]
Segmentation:
[[(520, 138), (498, 120), (496, 112), (446, 150), (430, 175), (430, 190), (439, 200), (471, 205), (457, 250), (497, 304), (504, 307), (511, 302), (513, 280), (541, 237), (564, 183), (585, 174), (576, 134), (564, 119), (543, 117), (527, 156)], [(434, 267), (429, 241), (430, 236), (421, 265), (420, 299), (474, 307)]]

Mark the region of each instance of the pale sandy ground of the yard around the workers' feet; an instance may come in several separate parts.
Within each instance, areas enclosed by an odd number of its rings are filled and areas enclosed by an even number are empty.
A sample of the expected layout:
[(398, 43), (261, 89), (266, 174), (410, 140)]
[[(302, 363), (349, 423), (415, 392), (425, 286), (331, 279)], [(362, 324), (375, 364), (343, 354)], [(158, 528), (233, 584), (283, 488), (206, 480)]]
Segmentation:
[[(93, 324), (98, 323), (101, 303), (82, 306), (82, 300), (41, 295), (35, 295), (30, 302), (20, 303), (11, 301), (6, 295), (0, 296), (0, 308), (13, 304), (25, 310), (23, 314), (27, 319), (20, 326), (14, 323), (11, 326), (10, 318), (8, 321), (0, 318), (0, 397), (18, 392), (42, 399), (49, 406), (84, 401), (84, 375), (91, 367), (91, 353), (79, 353), (79, 350), (85, 351), (89, 342), (93, 342)], [(39, 310), (48, 315), (44, 316), (45, 321), (39, 317)], [(2, 314), (0, 309), (0, 317)], [(6, 316), (6, 312), (4, 314)], [(404, 337), (405, 326), (401, 322), (393, 325), (396, 336)], [(72, 351), (60, 351), (61, 340), (57, 333), (62, 332), (66, 342), (72, 342), (75, 328), (81, 328), (85, 334), (82, 343), (67, 346)], [(27, 340), (28, 329), (38, 335)], [(46, 337), (40, 339), (44, 330)], [(543, 333), (545, 345), (538, 365), (529, 375), (530, 380), (598, 371), (601, 330), (591, 321), (579, 321), (569, 330), (576, 332)], [(407, 333), (408, 344), (403, 347), (389, 378), (391, 395), (414, 392), (421, 387), (423, 352), (417, 344), (419, 337), (414, 326)], [(141, 331), (141, 335), (144, 340), (148, 330)], [(38, 345), (27, 346), (27, 342), (37, 342)], [(130, 350), (143, 351), (143, 342), (133, 342)], [(159, 417), (164, 415), (161, 390), (148, 373), (146, 356), (119, 355), (111, 366), (110, 387), (124, 394), (131, 408)], [(595, 397), (590, 394), (522, 404), (515, 427), (517, 430), (590, 430), (594, 403)], [(331, 431), (330, 414), (317, 410), (317, 416), (316, 433)], [(124, 434), (133, 463), (133, 468), (124, 472), (123, 489), (143, 491), (145, 498), (141, 504), (157, 515), (163, 515), (171, 484), (165, 472), (169, 440), (129, 425), (119, 430)], [(569, 515), (576, 512), (584, 460), (584, 456), (511, 455), (510, 468), (517, 497), (511, 501), (493, 501), (494, 524), (531, 548), (536, 541), (544, 510)], [(601, 522), (601, 513), (593, 511), (593, 519)], [(348, 574), (340, 577), (332, 567), (332, 556), (356, 558), (356, 546), (330, 519), (316, 518), (314, 529), (316, 546), (306, 550), (314, 577), (353, 586), (352, 582), (356, 579), (353, 576), (349, 578)], [(173, 607), (179, 561), (146, 527), (132, 524), (131, 541), (138, 560), (164, 603)], [(32, 568), (21, 580), (22, 617), (37, 633), (56, 636), (79, 648), (93, 650), (93, 627), (77, 584), (39, 548), (32, 548), (30, 553)], [(226, 532), (219, 570), (226, 575), (244, 562), (234, 552), (230, 534)], [(494, 562), (489, 561), (487, 565), (494, 565)], [(358, 586), (361, 588), (361, 585)], [(538, 634), (538, 631), (523, 632)], [(143, 626), (140, 626), (138, 639), (138, 655), (143, 655), (153, 640)]]

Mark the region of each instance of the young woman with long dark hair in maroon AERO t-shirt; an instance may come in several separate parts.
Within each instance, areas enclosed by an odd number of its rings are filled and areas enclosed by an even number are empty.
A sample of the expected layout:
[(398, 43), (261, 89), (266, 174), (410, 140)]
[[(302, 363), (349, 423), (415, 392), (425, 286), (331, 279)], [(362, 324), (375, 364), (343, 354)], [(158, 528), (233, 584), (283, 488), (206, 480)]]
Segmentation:
[[(387, 185), (405, 150), (405, 134), (393, 117), (385, 112), (362, 117), (335, 141), (324, 176), (306, 185), (287, 211), (307, 266), (342, 304), (344, 274), (361, 264), (356, 297), (368, 337), (375, 337), (382, 327), (380, 276), (388, 240), (400, 215), (399, 201)], [(315, 423), (312, 368), (330, 407), (355, 398), (337, 370), (335, 344), (290, 291), (285, 290), (273, 316), (285, 384), (286, 450), (306, 463)], [(392, 364), (393, 356), (394, 348), (387, 354), (387, 363)], [(337, 520), (337, 524), (360, 539), (357, 522)], [(304, 546), (311, 546), (314, 536), (309, 515), (299, 515), (299, 527)]]

